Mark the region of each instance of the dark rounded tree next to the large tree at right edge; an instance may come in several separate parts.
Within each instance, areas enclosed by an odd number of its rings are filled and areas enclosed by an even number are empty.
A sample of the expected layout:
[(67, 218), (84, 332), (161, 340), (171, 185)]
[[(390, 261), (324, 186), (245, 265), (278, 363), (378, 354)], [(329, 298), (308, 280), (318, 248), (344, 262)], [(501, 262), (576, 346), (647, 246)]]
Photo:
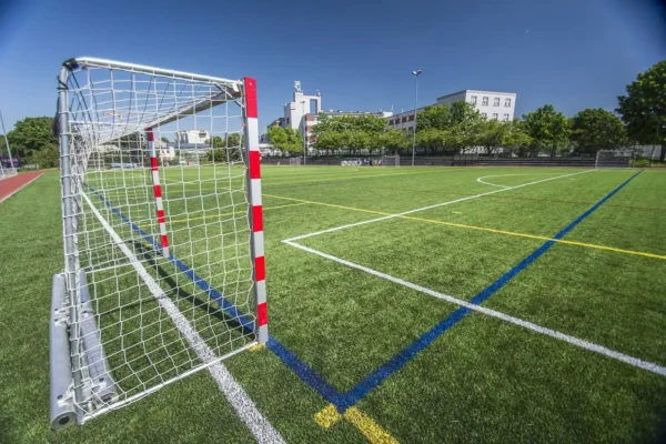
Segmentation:
[(601, 108), (581, 111), (572, 118), (571, 125), (571, 138), (578, 152), (594, 154), (599, 149), (616, 149), (626, 143), (622, 120)]

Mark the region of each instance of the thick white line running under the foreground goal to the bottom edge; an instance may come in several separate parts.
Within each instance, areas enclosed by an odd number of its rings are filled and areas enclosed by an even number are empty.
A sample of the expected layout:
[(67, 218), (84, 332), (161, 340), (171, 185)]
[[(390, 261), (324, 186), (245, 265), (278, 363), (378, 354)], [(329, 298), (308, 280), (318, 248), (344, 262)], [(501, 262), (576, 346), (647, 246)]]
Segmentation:
[[(284, 438), (280, 433), (273, 427), (273, 425), (269, 422), (269, 420), (261, 414), (261, 412), (256, 408), (248, 393), (243, 390), (243, 387), (234, 380), (233, 375), (229, 372), (229, 370), (222, 364), (220, 361), (226, 356), (218, 356), (213, 353), (211, 347), (206, 345), (203, 337), (199, 335), (199, 332), (194, 330), (192, 324), (188, 321), (188, 319), (178, 310), (178, 306), (164, 294), (162, 287), (154, 281), (154, 279), (148, 273), (148, 271), (143, 268), (143, 264), (139, 261), (139, 259), (134, 255), (134, 253), (125, 245), (120, 235), (109, 225), (109, 223), (104, 220), (104, 218), (100, 214), (98, 209), (90, 202), (90, 198), (85, 193), (81, 193), (88, 205), (90, 206), (93, 214), (98, 218), (100, 223), (104, 226), (104, 229), (109, 232), (115, 244), (122, 250), (122, 252), (128, 256), (131, 265), (137, 270), (139, 276), (143, 280), (143, 282), (148, 285), (150, 292), (155, 296), (160, 306), (167, 312), (167, 314), (171, 317), (180, 333), (184, 336), (188, 344), (194, 350), (196, 356), (204, 364), (198, 370), (203, 370), (208, 367), (209, 373), (215, 380), (215, 383), (229, 401), (229, 403), (236, 411), (236, 414), (241, 418), (241, 421), (248, 426), (252, 435), (256, 438), (259, 443), (284, 443)], [(235, 352), (230, 353), (229, 355), (235, 354), (240, 352), (238, 350)], [(178, 381), (184, 377), (186, 374), (194, 373), (194, 371), (186, 372), (182, 374), (180, 377), (176, 376), (170, 381), (167, 381), (163, 384), (160, 384), (154, 390), (160, 386), (165, 385), (169, 382)], [(148, 393), (147, 393), (148, 394)], [(115, 410), (120, 407), (122, 404), (127, 404), (133, 401), (133, 398), (127, 398), (124, 402), (117, 403), (115, 405), (100, 408), (95, 411), (94, 416), (102, 414), (109, 410)]]

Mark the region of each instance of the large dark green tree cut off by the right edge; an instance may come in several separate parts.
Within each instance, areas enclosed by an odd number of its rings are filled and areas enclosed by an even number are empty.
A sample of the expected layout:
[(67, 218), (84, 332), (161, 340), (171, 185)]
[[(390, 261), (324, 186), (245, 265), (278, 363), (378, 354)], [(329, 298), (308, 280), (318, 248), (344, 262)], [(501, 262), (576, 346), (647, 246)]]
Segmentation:
[(662, 145), (666, 154), (666, 60), (653, 65), (627, 85), (627, 95), (617, 98), (629, 138), (639, 143)]

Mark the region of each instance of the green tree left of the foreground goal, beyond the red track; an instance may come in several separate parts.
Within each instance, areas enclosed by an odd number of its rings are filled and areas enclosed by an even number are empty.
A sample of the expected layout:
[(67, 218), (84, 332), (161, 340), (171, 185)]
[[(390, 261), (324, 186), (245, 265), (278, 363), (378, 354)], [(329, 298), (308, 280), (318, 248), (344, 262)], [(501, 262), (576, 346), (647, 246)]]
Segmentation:
[(48, 145), (58, 145), (58, 138), (53, 134), (53, 118), (26, 118), (14, 124), (13, 130), (7, 133), (7, 139), (12, 153), (20, 158), (32, 155)]

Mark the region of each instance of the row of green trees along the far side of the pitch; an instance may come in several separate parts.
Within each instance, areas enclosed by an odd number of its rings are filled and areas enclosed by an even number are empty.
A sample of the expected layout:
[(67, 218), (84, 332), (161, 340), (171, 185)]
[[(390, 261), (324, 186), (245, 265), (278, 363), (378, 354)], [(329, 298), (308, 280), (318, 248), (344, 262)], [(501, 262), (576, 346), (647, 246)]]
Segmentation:
[[(487, 154), (500, 148), (517, 155), (541, 152), (594, 154), (599, 149), (632, 144), (662, 145), (666, 154), (666, 60), (637, 75), (618, 97), (616, 113), (603, 109), (586, 109), (567, 119), (552, 104), (546, 104), (511, 122), (485, 120), (470, 103), (426, 107), (416, 119), (416, 145), (426, 153), (458, 153), (482, 147)], [(412, 147), (413, 133), (389, 129), (386, 121), (371, 114), (360, 117), (320, 115), (313, 128), (314, 148), (325, 153), (359, 150), (380, 153), (401, 152)], [(285, 153), (303, 152), (303, 137), (291, 128), (269, 129), (269, 141)], [(7, 133), (12, 153), (23, 163), (41, 168), (57, 167), (58, 138), (53, 134), (53, 118), (37, 117), (18, 121)], [(222, 150), (241, 147), (240, 134), (226, 139), (214, 137), (209, 157), (226, 158)], [(0, 147), (4, 147), (0, 135)], [(239, 153), (240, 154), (240, 153)]]

